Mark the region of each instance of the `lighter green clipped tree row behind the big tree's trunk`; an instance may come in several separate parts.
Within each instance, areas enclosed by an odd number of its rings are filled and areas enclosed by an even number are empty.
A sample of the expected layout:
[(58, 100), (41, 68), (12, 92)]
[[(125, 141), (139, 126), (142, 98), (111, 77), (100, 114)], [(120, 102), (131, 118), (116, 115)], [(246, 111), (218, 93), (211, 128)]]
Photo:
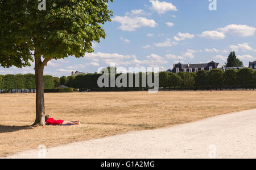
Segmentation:
[[(44, 76), (44, 88), (53, 89), (55, 86), (52, 76)], [(35, 92), (35, 74), (6, 74), (0, 75), (0, 90), (5, 92)]]

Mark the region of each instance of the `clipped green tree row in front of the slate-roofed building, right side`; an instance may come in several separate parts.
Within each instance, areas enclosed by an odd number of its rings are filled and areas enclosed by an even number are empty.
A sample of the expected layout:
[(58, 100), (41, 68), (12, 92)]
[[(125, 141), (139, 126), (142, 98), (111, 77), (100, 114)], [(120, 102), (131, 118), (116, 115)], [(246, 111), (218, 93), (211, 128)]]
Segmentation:
[(211, 71), (199, 71), (197, 73), (159, 73), (159, 86), (164, 89), (255, 89), (256, 71), (250, 68), (212, 69)]

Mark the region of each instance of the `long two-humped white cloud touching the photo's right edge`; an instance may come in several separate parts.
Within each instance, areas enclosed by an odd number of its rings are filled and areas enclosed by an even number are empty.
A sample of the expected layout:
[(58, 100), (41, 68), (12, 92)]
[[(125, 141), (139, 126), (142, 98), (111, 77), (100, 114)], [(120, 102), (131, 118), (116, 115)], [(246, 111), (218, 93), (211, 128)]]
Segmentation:
[(237, 25), (237, 24), (230, 24), (223, 28), (217, 28), (214, 31), (204, 31), (199, 36), (209, 39), (224, 39), (226, 34), (232, 36), (253, 36), (255, 34), (256, 28), (249, 27), (246, 25)]

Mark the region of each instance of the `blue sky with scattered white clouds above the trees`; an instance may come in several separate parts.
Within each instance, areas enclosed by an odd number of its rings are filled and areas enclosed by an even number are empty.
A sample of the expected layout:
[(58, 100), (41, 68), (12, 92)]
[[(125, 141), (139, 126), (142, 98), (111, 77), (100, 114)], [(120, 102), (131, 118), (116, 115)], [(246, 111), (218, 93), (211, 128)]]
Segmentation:
[[(50, 61), (44, 73), (96, 72), (110, 63), (160, 71), (179, 61), (223, 65), (231, 51), (247, 67), (256, 60), (256, 1), (216, 1), (217, 10), (211, 11), (209, 0), (114, 0), (112, 22), (103, 26), (106, 39), (94, 43), (94, 53)], [(33, 66), (0, 68), (0, 74), (33, 73)]]

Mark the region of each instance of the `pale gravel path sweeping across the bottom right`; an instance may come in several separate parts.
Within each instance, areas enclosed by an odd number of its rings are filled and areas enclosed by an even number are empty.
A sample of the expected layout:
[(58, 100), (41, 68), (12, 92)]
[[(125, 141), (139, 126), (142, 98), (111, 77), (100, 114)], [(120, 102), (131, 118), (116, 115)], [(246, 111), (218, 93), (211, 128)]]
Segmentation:
[[(39, 152), (40, 151), (40, 152)], [(9, 158), (256, 158), (256, 109)]]

